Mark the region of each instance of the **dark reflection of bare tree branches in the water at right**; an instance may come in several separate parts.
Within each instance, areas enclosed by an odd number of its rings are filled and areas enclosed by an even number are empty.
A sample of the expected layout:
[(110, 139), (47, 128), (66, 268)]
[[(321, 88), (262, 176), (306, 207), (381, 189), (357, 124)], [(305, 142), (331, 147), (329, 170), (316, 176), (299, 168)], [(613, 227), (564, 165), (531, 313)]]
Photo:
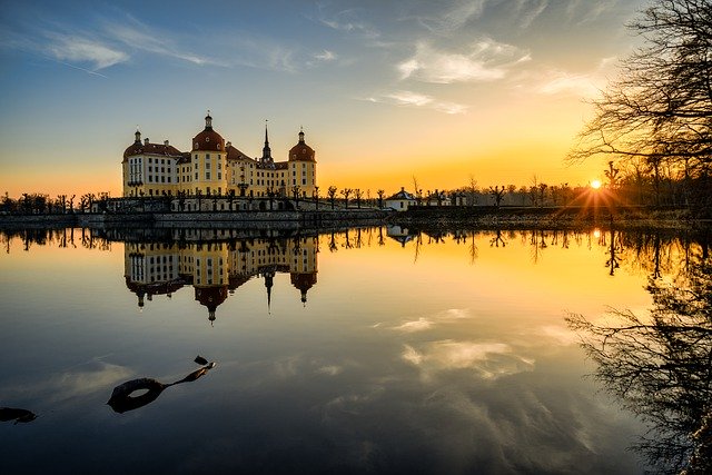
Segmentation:
[(595, 378), (649, 424), (632, 448), (662, 473), (712, 473), (712, 259), (706, 245), (698, 250), (672, 281), (659, 278), (655, 263), (649, 315), (567, 318), (597, 363)]

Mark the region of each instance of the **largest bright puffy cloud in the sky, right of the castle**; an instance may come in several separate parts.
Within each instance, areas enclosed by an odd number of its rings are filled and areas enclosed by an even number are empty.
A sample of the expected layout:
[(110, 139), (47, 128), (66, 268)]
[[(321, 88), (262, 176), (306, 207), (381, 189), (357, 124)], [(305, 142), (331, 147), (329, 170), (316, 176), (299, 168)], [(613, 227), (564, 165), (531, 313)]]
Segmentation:
[(530, 59), (526, 51), (484, 38), (464, 53), (438, 51), (427, 42), (419, 42), (415, 55), (396, 68), (402, 80), (434, 83), (493, 81), (504, 78), (511, 66)]

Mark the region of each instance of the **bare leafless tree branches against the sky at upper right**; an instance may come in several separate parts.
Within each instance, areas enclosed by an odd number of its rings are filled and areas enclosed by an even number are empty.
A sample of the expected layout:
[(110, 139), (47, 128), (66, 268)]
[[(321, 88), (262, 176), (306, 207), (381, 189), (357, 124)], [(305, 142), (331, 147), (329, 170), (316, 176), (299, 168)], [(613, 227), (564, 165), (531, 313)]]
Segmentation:
[(620, 79), (593, 101), (594, 118), (567, 158), (609, 155), (645, 165), (650, 174), (665, 166), (709, 192), (712, 2), (653, 0), (629, 28), (643, 44), (622, 61)]

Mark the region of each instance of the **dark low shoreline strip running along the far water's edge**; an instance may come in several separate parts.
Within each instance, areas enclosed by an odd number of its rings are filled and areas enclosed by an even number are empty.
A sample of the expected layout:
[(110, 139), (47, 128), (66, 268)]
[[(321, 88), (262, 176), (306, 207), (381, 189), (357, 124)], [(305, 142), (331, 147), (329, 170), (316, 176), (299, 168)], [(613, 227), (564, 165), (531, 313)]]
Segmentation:
[(396, 225), (423, 228), (581, 228), (693, 230), (712, 227), (710, 219), (694, 219), (685, 209), (571, 207), (414, 207), (396, 212), (368, 208), (298, 211), (184, 211), (144, 214), (4, 215), (0, 229), (18, 228), (318, 228), (333, 225)]

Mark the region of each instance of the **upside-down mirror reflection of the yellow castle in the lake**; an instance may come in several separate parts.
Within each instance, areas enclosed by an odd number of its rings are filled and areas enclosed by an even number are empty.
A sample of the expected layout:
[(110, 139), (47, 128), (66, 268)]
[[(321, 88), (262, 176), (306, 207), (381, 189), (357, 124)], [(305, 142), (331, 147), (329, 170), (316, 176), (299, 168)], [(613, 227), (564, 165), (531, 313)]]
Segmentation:
[(138, 306), (154, 296), (192, 286), (195, 299), (207, 308), (208, 319), (228, 295), (251, 278), (265, 283), (270, 305), (274, 277), (289, 274), (306, 305), (307, 293), (317, 281), (318, 237), (250, 238), (201, 243), (126, 243), (126, 286), (137, 295)]

